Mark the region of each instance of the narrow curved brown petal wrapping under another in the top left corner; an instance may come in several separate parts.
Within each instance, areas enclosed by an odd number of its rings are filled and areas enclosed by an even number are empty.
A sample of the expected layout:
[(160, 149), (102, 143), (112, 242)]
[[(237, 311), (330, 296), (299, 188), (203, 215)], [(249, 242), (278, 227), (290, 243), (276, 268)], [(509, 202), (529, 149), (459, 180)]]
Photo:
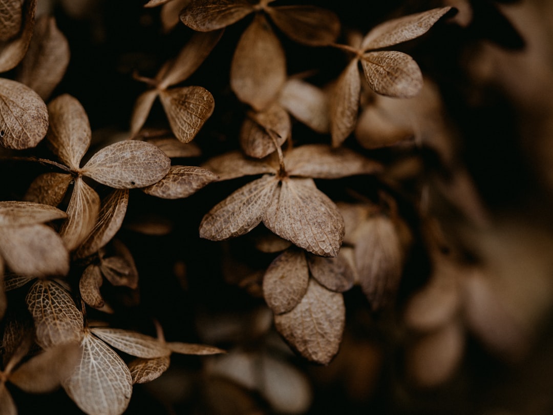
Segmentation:
[(27, 0), (23, 3), (23, 23), (17, 38), (8, 42), (0, 42), (0, 72), (6, 72), (23, 59), (33, 36), (36, 0)]

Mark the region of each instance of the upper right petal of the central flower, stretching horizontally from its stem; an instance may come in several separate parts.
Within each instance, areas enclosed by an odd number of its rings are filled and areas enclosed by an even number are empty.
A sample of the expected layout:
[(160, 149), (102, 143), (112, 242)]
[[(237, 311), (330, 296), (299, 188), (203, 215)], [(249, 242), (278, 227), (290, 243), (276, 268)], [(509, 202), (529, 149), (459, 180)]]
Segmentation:
[(307, 144), (294, 148), (284, 157), (290, 176), (338, 179), (357, 174), (374, 174), (382, 165), (348, 148), (326, 144)]

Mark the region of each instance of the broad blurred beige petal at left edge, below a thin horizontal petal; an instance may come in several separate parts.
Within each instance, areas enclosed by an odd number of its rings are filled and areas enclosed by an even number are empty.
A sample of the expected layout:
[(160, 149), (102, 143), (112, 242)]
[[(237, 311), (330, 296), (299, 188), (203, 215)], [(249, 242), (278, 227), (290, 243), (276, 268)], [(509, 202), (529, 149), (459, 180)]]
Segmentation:
[(46, 225), (0, 228), (0, 255), (16, 274), (65, 276), (69, 252), (60, 236)]

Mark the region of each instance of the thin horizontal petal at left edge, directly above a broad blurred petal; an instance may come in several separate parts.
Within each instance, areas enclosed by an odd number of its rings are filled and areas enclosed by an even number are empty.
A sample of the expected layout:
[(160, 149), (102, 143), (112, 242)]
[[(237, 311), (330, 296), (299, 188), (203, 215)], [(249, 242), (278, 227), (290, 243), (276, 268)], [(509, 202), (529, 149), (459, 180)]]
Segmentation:
[(64, 219), (67, 214), (57, 207), (34, 202), (0, 201), (0, 226), (23, 226)]

